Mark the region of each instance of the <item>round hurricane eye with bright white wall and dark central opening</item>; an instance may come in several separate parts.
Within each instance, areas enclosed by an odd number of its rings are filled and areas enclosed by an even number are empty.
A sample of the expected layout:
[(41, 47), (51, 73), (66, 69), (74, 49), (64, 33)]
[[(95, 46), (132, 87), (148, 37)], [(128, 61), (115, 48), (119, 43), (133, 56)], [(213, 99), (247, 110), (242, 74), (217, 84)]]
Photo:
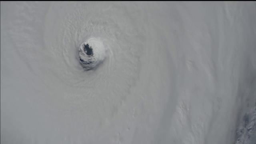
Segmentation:
[(106, 48), (99, 38), (89, 38), (80, 46), (80, 64), (85, 70), (96, 68), (105, 57)]

